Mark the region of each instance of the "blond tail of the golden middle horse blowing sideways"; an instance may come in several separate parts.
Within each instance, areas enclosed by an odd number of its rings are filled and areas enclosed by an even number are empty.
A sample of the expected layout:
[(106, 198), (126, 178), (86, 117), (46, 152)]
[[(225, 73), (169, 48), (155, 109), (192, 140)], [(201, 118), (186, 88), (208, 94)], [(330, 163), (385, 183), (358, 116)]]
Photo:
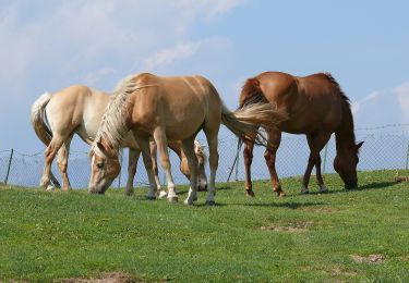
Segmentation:
[(231, 112), (222, 104), (221, 123), (239, 138), (254, 140), (266, 146), (266, 138), (260, 127), (270, 128), (287, 120), (287, 115), (270, 103), (252, 103)]

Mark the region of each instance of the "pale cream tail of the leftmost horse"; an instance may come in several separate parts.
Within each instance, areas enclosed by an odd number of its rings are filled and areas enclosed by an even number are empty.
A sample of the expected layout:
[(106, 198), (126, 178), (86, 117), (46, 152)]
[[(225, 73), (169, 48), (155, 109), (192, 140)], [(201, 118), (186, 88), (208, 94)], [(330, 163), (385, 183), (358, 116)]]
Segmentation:
[(48, 125), (46, 107), (51, 99), (49, 93), (41, 95), (32, 106), (32, 125), (38, 138), (48, 146), (52, 138), (52, 132)]

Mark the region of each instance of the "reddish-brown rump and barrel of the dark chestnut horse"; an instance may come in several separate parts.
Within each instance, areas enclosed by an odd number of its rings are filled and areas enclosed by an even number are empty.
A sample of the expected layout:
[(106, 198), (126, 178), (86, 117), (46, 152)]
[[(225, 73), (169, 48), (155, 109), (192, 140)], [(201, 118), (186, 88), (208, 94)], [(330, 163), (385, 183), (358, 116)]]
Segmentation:
[(279, 127), (293, 134), (334, 132), (342, 119), (342, 94), (327, 74), (305, 77), (280, 72), (256, 76), (265, 99), (289, 115)]

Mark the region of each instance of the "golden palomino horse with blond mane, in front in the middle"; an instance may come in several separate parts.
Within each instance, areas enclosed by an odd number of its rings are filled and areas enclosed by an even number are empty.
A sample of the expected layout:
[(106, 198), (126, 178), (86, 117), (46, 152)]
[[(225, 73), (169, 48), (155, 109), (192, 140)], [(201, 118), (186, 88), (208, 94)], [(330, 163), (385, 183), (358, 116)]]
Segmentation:
[[(196, 167), (193, 140), (203, 130), (209, 150), (210, 181), (206, 204), (214, 204), (215, 179), (218, 165), (217, 135), (220, 123), (236, 135), (245, 138), (257, 133), (260, 125), (270, 127), (281, 115), (267, 103), (253, 104), (230, 112), (216, 88), (202, 76), (161, 77), (148, 73), (130, 76), (108, 104), (98, 134), (89, 151), (92, 173), (89, 192), (104, 194), (120, 172), (118, 150), (127, 133), (132, 131), (143, 153), (149, 177), (148, 199), (156, 196), (148, 140), (154, 137), (166, 172), (168, 200), (178, 201), (170, 162), (166, 150), (168, 140), (181, 140), (191, 172), (185, 204), (196, 200)], [(258, 137), (258, 135), (256, 135)], [(258, 139), (260, 140), (260, 139)]]

